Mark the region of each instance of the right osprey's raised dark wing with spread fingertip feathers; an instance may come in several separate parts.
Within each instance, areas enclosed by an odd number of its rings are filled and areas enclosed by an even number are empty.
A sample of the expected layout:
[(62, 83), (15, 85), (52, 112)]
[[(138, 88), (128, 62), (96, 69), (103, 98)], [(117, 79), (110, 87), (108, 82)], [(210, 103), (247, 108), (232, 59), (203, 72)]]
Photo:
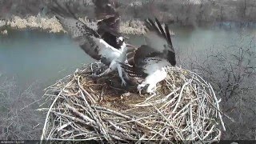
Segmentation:
[(151, 20), (145, 21), (146, 25), (146, 45), (142, 45), (133, 53), (127, 55), (128, 62), (132, 66), (142, 66), (144, 58), (159, 57), (167, 59), (171, 65), (176, 65), (174, 48), (170, 39), (168, 26), (164, 29), (161, 23), (156, 18), (156, 24)]

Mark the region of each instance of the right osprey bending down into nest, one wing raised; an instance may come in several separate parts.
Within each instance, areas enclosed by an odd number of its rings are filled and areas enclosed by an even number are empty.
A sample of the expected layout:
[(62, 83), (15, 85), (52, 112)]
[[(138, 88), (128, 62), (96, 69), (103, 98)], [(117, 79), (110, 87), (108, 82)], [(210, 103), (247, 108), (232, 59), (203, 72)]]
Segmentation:
[(145, 78), (137, 86), (139, 93), (146, 89), (146, 93), (155, 94), (156, 84), (167, 76), (166, 66), (176, 65), (169, 28), (167, 25), (163, 27), (157, 18), (155, 22), (151, 19), (145, 21), (146, 45), (138, 47), (133, 54), (128, 55), (130, 65), (121, 63), (131, 77)]

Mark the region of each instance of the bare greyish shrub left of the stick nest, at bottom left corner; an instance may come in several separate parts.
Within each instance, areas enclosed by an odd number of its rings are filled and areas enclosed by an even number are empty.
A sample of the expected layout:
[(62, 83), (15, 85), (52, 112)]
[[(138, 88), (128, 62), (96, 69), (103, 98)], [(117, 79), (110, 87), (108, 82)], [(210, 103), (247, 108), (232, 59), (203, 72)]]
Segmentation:
[(43, 116), (35, 111), (38, 95), (34, 84), (18, 90), (14, 78), (0, 77), (0, 139), (38, 139)]

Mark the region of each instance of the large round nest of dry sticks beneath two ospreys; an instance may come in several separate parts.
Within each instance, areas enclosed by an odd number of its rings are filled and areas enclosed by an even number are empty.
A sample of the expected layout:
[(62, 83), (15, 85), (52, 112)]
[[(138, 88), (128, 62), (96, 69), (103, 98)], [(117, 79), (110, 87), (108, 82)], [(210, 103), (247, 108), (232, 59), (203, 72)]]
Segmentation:
[(53, 99), (42, 140), (97, 142), (218, 141), (225, 130), (212, 86), (198, 74), (167, 68), (155, 95), (122, 87), (117, 73), (93, 78), (96, 64), (76, 70), (46, 88)]

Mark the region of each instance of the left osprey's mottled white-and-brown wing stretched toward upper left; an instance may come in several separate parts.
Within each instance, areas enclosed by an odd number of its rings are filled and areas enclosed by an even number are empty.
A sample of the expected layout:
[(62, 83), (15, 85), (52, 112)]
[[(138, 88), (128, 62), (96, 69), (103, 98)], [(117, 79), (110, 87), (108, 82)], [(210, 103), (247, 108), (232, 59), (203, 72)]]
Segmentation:
[(75, 42), (78, 42), (86, 54), (89, 54), (90, 57), (96, 60), (103, 60), (104, 64), (109, 65), (113, 57), (111, 54), (118, 53), (119, 50), (114, 49), (113, 46), (102, 40), (96, 31), (79, 21), (69, 6), (67, 6), (67, 3), (65, 6), (63, 5), (54, 1), (54, 5), (50, 5), (49, 7), (56, 14), (56, 18), (58, 18), (63, 28)]

